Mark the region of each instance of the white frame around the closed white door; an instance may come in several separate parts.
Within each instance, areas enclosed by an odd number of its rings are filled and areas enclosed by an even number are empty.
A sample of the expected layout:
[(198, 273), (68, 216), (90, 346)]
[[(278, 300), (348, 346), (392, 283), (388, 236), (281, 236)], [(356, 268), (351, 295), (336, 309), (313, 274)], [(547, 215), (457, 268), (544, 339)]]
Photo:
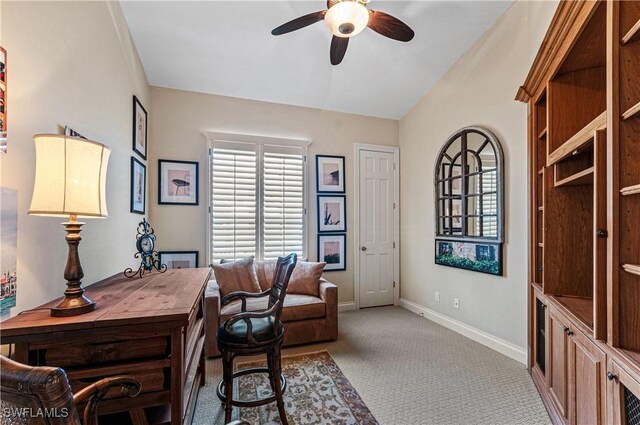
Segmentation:
[(354, 264), (354, 295), (356, 309), (360, 309), (360, 151), (377, 151), (393, 154), (393, 305), (398, 305), (400, 301), (400, 147), (369, 145), (356, 143), (353, 146), (355, 154), (355, 239), (353, 244), (353, 264)]

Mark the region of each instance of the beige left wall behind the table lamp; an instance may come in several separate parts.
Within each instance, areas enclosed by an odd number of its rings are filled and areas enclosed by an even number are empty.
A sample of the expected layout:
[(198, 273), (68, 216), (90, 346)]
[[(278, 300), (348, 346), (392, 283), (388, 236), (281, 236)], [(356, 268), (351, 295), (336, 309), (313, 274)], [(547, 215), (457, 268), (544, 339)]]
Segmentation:
[(129, 213), (132, 95), (148, 106), (149, 88), (119, 3), (2, 2), (8, 52), (8, 149), (2, 187), (18, 191), (16, 314), (62, 294), (67, 256), (60, 218), (27, 215), (36, 133), (68, 125), (112, 149), (109, 218), (87, 219), (80, 258), (89, 284), (134, 265), (142, 216)]

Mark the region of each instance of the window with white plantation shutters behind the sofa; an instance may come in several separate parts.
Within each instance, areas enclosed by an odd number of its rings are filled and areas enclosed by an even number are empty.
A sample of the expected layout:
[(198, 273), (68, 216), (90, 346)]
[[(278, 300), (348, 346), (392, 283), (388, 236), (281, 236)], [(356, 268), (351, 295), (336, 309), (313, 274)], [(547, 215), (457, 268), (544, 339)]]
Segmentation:
[(211, 262), (305, 254), (305, 149), (214, 141)]

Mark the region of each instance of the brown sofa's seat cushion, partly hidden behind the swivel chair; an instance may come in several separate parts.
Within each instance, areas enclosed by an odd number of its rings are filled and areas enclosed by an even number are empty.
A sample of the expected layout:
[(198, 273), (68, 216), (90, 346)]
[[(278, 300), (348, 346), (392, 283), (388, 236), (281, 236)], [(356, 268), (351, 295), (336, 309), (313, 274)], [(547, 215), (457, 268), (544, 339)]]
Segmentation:
[[(247, 311), (259, 311), (267, 308), (269, 297), (247, 298)], [(240, 313), (242, 301), (235, 300), (220, 310), (220, 324), (234, 314)], [(311, 295), (287, 294), (282, 309), (283, 322), (295, 322), (305, 319), (321, 319), (326, 315), (325, 302)]]

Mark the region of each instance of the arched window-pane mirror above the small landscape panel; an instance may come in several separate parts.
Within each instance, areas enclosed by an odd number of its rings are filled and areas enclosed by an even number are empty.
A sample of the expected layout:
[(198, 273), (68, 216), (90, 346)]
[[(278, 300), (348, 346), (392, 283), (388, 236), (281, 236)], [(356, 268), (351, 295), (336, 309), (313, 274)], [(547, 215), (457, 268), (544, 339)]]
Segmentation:
[(500, 142), (484, 128), (449, 137), (434, 176), (438, 239), (502, 242), (502, 163)]

